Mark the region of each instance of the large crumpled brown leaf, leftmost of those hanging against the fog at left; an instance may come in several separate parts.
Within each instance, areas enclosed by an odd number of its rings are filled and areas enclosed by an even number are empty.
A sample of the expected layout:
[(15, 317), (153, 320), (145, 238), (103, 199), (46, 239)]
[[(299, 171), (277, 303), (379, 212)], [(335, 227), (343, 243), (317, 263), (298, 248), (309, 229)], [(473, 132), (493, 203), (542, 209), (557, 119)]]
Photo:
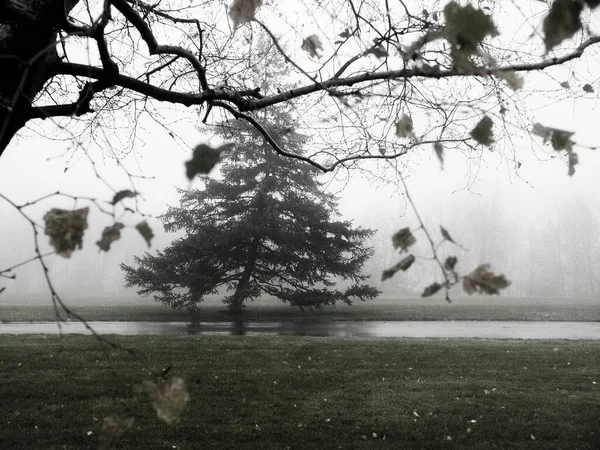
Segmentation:
[(89, 208), (74, 211), (55, 208), (44, 215), (45, 233), (57, 254), (70, 258), (76, 248), (83, 246), (88, 212)]

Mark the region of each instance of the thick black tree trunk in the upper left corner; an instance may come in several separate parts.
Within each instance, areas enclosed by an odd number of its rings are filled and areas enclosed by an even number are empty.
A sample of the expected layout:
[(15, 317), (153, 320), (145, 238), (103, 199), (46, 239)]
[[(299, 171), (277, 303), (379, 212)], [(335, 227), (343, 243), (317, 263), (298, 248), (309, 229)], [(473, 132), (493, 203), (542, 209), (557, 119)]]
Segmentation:
[(57, 31), (79, 0), (1, 0), (0, 156), (58, 61)]

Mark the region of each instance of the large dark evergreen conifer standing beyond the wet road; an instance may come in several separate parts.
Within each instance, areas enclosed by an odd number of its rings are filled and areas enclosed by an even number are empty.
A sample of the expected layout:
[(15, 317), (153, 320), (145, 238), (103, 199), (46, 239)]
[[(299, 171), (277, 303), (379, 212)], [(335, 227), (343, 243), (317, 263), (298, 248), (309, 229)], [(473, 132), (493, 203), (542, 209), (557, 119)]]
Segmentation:
[[(301, 153), (303, 136), (280, 113), (268, 131)], [(373, 232), (336, 220), (337, 198), (318, 172), (279, 156), (243, 123), (223, 126), (221, 134), (236, 145), (221, 155), (220, 176), (205, 178), (203, 189), (182, 190), (180, 206), (161, 216), (166, 231), (184, 236), (156, 255), (136, 257), (137, 268), (123, 264), (126, 285), (191, 311), (226, 288), (232, 293), (224, 302), (236, 314), (261, 294), (301, 309), (377, 296), (361, 284)], [(338, 289), (334, 278), (350, 286)]]

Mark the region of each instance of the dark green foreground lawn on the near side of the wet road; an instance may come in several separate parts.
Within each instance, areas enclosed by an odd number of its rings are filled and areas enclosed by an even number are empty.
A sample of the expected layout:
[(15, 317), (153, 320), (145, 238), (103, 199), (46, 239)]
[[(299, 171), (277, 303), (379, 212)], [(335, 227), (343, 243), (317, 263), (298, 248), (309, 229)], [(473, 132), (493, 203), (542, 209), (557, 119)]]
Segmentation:
[[(600, 343), (135, 337), (0, 338), (6, 449), (598, 449)], [(134, 393), (167, 365), (180, 423)], [(599, 384), (597, 384), (599, 383)]]

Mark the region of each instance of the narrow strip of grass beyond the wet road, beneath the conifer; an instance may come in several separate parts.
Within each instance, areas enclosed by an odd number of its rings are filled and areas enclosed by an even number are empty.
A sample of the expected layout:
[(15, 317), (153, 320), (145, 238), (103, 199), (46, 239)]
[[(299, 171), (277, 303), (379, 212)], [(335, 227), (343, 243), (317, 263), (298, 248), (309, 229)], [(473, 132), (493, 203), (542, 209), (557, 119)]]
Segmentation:
[[(104, 299), (94, 302), (69, 301), (88, 320), (187, 321), (186, 311), (173, 310), (149, 298)], [(231, 318), (218, 300), (202, 304), (200, 320), (226, 321)], [(335, 320), (566, 320), (600, 321), (600, 299), (521, 299), (510, 297), (443, 299), (378, 298), (352, 306), (339, 305), (320, 311), (298, 311), (277, 300), (250, 303), (246, 318), (252, 321), (335, 321)], [(49, 299), (10, 301), (0, 297), (0, 321), (54, 320)]]

